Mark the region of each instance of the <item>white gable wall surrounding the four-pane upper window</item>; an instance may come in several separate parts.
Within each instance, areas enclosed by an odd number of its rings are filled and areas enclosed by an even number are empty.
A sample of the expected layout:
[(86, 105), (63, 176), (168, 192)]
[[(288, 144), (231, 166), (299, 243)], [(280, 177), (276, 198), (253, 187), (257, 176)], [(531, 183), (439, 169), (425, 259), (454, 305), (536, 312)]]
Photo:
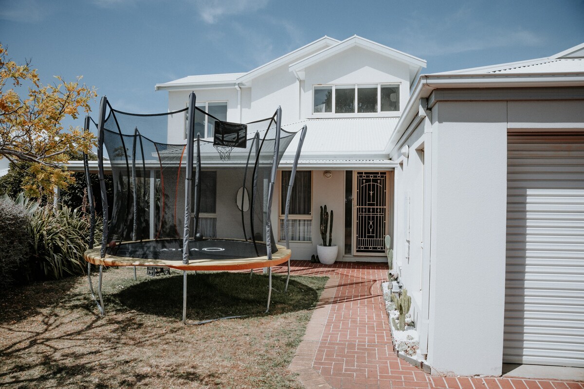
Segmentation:
[(405, 107), (409, 97), (408, 65), (360, 47), (340, 52), (306, 69), (301, 96), (303, 117), (398, 117), (401, 112), (381, 114), (312, 114), (312, 87), (319, 84), (399, 84), (400, 106)]

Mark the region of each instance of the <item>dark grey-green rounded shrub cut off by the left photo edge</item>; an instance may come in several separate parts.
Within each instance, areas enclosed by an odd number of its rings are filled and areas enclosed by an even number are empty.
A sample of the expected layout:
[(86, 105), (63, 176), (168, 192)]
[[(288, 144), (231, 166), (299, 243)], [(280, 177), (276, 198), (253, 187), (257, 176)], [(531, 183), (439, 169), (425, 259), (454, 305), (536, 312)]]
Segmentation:
[(0, 289), (26, 278), (30, 213), (22, 204), (0, 199)]

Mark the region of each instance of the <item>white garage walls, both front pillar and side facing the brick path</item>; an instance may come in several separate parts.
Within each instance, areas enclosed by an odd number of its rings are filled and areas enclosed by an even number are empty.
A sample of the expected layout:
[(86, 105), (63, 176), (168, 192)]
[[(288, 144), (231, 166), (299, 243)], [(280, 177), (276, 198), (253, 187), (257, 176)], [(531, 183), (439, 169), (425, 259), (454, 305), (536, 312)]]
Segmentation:
[(506, 115), (506, 102), (439, 102), (396, 169), (395, 265), (437, 374), (501, 373)]

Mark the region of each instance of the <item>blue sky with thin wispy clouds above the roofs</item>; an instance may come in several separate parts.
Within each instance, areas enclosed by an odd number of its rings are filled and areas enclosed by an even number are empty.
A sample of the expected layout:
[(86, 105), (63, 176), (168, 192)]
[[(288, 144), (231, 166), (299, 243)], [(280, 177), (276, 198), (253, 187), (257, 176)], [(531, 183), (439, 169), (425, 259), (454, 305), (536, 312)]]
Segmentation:
[(166, 111), (156, 83), (245, 72), (324, 35), (353, 34), (426, 59), (425, 73), (450, 71), (584, 42), (584, 1), (0, 0), (10, 57), (32, 59), (44, 83), (83, 75), (137, 113)]

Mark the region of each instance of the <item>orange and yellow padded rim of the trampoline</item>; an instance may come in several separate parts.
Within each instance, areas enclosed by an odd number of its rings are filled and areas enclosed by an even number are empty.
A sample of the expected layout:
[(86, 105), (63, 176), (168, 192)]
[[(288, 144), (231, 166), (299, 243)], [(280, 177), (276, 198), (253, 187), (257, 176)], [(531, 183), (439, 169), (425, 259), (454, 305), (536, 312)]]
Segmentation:
[(85, 251), (83, 254), (86, 261), (91, 262), (94, 265), (104, 265), (104, 266), (155, 266), (155, 267), (168, 267), (178, 270), (201, 270), (201, 271), (227, 271), (227, 270), (246, 270), (246, 269), (257, 269), (257, 268), (267, 268), (276, 265), (283, 264), (290, 258), (291, 251), (284, 246), (276, 245), (278, 251), (272, 254), (272, 259), (269, 260), (267, 255), (263, 257), (253, 257), (253, 258), (241, 258), (235, 260), (217, 260), (211, 258), (200, 258), (196, 260), (190, 260), (189, 264), (185, 265), (182, 261), (169, 261), (169, 260), (154, 260), (147, 258), (131, 258), (131, 257), (118, 257), (116, 255), (106, 254), (104, 258), (101, 258), (100, 248), (95, 247), (90, 250)]

